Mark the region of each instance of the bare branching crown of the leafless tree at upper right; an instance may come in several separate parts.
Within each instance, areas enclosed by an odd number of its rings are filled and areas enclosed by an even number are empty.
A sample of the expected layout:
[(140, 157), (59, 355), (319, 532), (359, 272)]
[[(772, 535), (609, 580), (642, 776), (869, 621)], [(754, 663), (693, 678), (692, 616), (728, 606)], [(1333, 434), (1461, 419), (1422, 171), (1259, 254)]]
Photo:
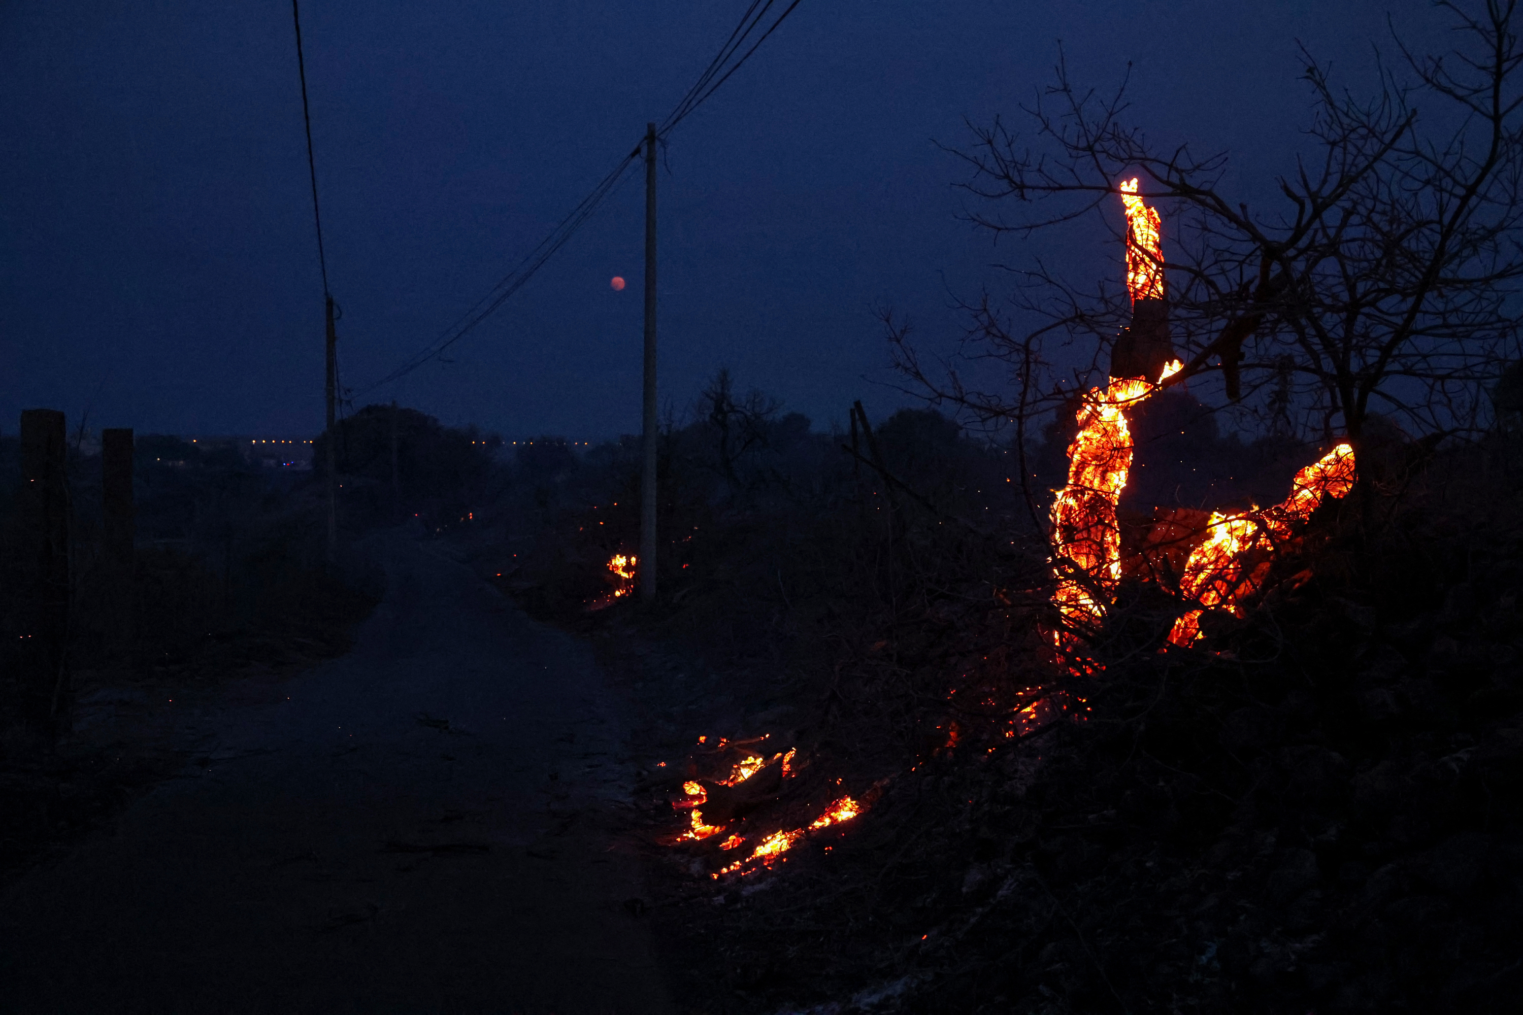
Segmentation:
[[(1488, 382), (1515, 356), (1523, 47), (1515, 0), (1436, 6), (1454, 21), (1454, 47), (1422, 53), (1392, 33), (1398, 59), (1381, 64), (1368, 100), (1302, 50), (1311, 148), (1278, 180), (1273, 207), (1226, 192), (1226, 154), (1154, 145), (1129, 122), (1124, 82), (1103, 99), (1060, 61), (1023, 108), (1030, 142), (996, 119), (956, 151), (979, 198), (972, 218), (1030, 237), (1098, 216), (1119, 242), (1118, 184), (1139, 177), (1165, 222), (1170, 330), (1186, 364), (1171, 383), (1214, 374), (1226, 403), (1305, 438), (1357, 444), (1377, 415), (1412, 435), (1474, 434), (1488, 425)], [(1054, 387), (1054, 339), (1110, 362), (1129, 295), (1040, 260), (1013, 271), (1011, 304), (967, 304), (964, 356), (1008, 368), (1014, 396), (928, 370), (892, 323), (891, 338), (900, 370), (934, 397), (1025, 425), (1071, 397)]]

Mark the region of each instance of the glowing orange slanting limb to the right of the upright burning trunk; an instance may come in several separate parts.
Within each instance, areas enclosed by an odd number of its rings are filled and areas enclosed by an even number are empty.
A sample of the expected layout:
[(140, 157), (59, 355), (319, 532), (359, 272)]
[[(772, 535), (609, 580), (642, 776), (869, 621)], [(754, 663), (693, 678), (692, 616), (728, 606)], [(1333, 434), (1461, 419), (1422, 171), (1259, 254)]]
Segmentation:
[(1199, 641), (1200, 613), (1205, 609), (1228, 609), (1241, 616), (1243, 600), (1256, 592), (1269, 577), (1275, 543), (1288, 539), (1293, 523), (1307, 520), (1323, 496), (1348, 496), (1354, 479), (1354, 449), (1339, 444), (1296, 473), (1290, 496), (1282, 504), (1232, 517), (1212, 513), (1206, 542), (1191, 551), (1179, 581), (1180, 595), (1203, 609), (1189, 610), (1179, 618), (1168, 641), (1174, 645)]

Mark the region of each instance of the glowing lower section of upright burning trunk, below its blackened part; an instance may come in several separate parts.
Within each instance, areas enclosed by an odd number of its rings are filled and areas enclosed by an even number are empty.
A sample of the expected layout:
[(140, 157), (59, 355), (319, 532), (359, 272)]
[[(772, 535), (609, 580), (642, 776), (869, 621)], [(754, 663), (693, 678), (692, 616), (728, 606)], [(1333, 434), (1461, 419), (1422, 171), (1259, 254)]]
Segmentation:
[[(1177, 359), (1168, 364), (1159, 383), (1180, 368)], [(1084, 394), (1078, 432), (1068, 446), (1068, 485), (1052, 502), (1051, 516), (1057, 577), (1052, 601), (1063, 616), (1063, 627), (1054, 633), (1058, 648), (1072, 645), (1075, 632), (1098, 625), (1121, 578), (1116, 502), (1132, 469), (1132, 431), (1125, 412), (1154, 391), (1154, 383), (1125, 377)]]

